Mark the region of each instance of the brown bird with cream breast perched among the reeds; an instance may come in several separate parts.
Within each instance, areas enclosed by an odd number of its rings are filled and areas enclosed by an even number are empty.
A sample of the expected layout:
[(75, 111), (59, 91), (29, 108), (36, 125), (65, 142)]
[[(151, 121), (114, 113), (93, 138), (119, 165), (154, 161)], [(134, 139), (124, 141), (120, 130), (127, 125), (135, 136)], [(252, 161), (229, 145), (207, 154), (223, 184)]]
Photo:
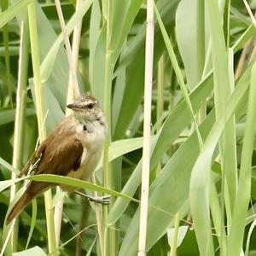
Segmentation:
[[(67, 116), (32, 154), (20, 172), (22, 175), (56, 174), (88, 180), (101, 158), (108, 133), (108, 123), (94, 96), (82, 95), (67, 108)], [(12, 207), (6, 224), (15, 219), (33, 198), (54, 186), (54, 183), (29, 181), (20, 199)], [(73, 192), (74, 187), (60, 185)]]

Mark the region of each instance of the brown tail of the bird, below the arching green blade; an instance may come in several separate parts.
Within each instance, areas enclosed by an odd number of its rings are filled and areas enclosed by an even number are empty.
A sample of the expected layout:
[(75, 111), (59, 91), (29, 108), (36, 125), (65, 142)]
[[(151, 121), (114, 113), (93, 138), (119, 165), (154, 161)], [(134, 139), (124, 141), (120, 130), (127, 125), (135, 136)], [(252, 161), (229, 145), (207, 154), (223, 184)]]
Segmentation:
[(15, 203), (15, 206), (9, 212), (6, 218), (6, 224), (9, 224), (14, 218), (16, 218), (20, 212), (28, 205), (33, 198), (40, 193), (49, 189), (50, 183), (43, 182), (31, 182), (28, 184), (26, 191), (21, 195), (20, 199)]

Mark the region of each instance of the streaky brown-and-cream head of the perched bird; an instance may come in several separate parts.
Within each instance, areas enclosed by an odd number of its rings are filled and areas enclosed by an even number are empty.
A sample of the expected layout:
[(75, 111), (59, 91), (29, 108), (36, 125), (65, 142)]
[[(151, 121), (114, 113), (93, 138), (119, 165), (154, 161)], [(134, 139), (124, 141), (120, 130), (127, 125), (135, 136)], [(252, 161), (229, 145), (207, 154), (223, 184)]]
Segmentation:
[(74, 111), (74, 115), (81, 123), (95, 120), (105, 121), (105, 116), (99, 102), (93, 96), (79, 96), (67, 108)]

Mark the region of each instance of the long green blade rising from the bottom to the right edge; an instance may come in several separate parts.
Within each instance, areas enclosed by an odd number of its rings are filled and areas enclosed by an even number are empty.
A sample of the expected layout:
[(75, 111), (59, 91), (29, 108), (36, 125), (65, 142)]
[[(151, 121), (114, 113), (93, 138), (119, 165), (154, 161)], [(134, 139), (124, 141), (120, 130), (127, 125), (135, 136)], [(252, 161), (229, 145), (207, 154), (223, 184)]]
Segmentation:
[(245, 221), (247, 218), (247, 207), (251, 194), (252, 154), (255, 135), (255, 98), (256, 98), (256, 64), (251, 70), (250, 91), (247, 107), (246, 131), (241, 151), (241, 168), (237, 196), (233, 212), (232, 226), (228, 241), (229, 255), (240, 255), (243, 241)]

